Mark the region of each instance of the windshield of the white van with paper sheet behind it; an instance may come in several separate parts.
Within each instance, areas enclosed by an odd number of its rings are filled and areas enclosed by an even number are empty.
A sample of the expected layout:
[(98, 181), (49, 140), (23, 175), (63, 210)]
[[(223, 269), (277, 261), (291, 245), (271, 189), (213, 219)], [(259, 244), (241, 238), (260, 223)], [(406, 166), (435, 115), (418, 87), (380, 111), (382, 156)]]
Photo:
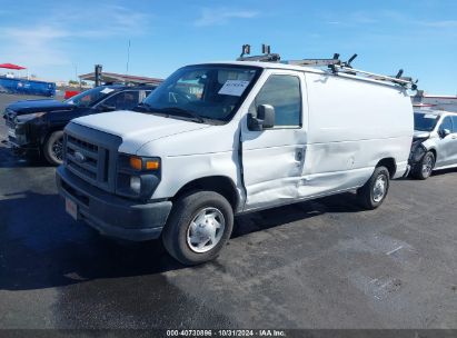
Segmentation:
[(143, 107), (168, 116), (228, 121), (259, 73), (259, 68), (242, 66), (185, 67), (147, 97)]

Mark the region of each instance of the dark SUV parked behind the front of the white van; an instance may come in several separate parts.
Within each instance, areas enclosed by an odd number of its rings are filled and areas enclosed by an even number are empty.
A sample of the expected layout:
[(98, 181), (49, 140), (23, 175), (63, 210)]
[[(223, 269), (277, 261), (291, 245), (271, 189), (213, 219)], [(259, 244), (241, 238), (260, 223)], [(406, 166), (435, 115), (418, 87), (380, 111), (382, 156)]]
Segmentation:
[(3, 118), (8, 143), (18, 155), (42, 155), (51, 165), (62, 162), (62, 136), (67, 123), (77, 117), (131, 109), (157, 86), (100, 86), (63, 102), (24, 100), (7, 107)]

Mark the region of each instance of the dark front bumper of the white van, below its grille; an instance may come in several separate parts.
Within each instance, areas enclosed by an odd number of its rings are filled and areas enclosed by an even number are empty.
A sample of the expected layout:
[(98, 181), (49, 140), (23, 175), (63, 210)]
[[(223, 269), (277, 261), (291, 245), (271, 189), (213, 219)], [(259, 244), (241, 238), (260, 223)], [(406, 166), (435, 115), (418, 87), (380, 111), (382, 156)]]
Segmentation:
[(158, 238), (171, 210), (171, 201), (135, 201), (96, 188), (60, 166), (56, 172), (59, 193), (78, 207), (78, 219), (102, 235), (142, 241)]

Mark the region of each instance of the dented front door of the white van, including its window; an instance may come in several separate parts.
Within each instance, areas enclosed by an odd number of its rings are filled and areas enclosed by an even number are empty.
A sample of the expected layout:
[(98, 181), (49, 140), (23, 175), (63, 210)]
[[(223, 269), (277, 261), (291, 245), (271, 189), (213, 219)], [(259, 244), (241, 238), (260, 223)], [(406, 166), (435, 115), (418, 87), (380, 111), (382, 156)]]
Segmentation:
[(259, 81), (262, 84), (249, 102), (249, 112), (256, 116), (258, 106), (271, 105), (275, 127), (249, 130), (247, 119), (242, 120), (245, 210), (296, 199), (306, 155), (305, 77), (295, 71), (267, 70)]

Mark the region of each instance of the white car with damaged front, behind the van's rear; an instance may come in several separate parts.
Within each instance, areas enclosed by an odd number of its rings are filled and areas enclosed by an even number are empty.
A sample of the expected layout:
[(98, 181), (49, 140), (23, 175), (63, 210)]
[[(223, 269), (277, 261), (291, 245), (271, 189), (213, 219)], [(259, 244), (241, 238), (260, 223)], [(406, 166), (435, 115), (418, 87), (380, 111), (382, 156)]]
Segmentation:
[(434, 170), (457, 167), (457, 113), (417, 110), (409, 163), (411, 176), (427, 179)]

